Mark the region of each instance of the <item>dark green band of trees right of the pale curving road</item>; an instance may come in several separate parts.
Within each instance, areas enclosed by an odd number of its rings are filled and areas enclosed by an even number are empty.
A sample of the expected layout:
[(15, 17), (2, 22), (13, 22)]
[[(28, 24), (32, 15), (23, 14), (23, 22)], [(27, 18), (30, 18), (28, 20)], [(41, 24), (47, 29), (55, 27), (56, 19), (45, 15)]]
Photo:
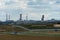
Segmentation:
[(21, 25), (23, 27), (26, 27), (28, 29), (54, 29), (57, 27), (54, 27), (53, 24), (23, 24)]

